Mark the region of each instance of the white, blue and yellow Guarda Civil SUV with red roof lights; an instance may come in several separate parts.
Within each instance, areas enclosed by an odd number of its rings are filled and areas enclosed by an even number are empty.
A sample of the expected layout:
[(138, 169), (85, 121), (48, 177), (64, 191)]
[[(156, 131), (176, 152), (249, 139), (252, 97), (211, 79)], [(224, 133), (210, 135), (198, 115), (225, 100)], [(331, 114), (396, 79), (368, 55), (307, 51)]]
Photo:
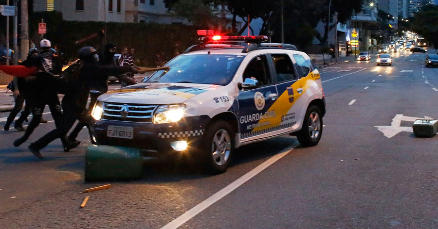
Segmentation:
[[(266, 36), (200, 38), (142, 83), (108, 92), (92, 111), (98, 145), (145, 156), (190, 153), (224, 172), (235, 148), (283, 134), (318, 144), (326, 112), (318, 70)], [(249, 45), (223, 44), (244, 41)]]

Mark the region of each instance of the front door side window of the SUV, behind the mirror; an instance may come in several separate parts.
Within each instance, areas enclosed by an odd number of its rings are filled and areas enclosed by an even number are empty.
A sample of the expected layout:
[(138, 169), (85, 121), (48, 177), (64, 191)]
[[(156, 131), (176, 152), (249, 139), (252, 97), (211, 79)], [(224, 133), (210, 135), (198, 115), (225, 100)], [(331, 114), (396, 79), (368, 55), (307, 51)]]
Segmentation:
[(243, 72), (243, 81), (245, 81), (246, 78), (256, 79), (259, 85), (271, 83), (268, 60), (265, 55), (257, 56), (246, 66)]

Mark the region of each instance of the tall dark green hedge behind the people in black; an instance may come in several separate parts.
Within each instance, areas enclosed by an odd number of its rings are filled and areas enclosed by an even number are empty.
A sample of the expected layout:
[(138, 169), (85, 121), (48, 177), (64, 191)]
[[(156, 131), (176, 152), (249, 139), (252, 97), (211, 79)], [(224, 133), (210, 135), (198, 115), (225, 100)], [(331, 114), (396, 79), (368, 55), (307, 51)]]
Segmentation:
[[(50, 13), (50, 14), (49, 14)], [(47, 14), (47, 15), (45, 15)], [(49, 39), (52, 45), (58, 44), (65, 52), (68, 59), (77, 58), (77, 50), (85, 46), (93, 46), (100, 49), (102, 41), (100, 37), (94, 37), (87, 42), (76, 46), (74, 43), (84, 37), (105, 29), (104, 22), (98, 21), (64, 21), (58, 14), (42, 12), (32, 16), (29, 23), (30, 34), (37, 34), (38, 21), (41, 16), (47, 21), (47, 34), (44, 38)], [(175, 55), (175, 49), (182, 53), (185, 49), (197, 42), (197, 29), (194, 26), (179, 24), (153, 24), (153, 23), (115, 23), (108, 22), (106, 25), (107, 42), (117, 45), (118, 53), (124, 46), (133, 47), (136, 50), (135, 59), (138, 65), (153, 66), (156, 54), (169, 60)], [(39, 39), (34, 40), (37, 44)]]

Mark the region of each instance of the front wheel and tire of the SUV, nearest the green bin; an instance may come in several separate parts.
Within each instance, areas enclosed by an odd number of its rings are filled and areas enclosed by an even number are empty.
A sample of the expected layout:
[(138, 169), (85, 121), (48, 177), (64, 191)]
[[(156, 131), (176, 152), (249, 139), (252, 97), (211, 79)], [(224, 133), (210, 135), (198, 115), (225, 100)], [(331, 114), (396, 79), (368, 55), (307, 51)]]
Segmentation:
[(230, 124), (217, 121), (204, 133), (201, 158), (210, 174), (220, 174), (227, 170), (234, 151), (234, 132)]

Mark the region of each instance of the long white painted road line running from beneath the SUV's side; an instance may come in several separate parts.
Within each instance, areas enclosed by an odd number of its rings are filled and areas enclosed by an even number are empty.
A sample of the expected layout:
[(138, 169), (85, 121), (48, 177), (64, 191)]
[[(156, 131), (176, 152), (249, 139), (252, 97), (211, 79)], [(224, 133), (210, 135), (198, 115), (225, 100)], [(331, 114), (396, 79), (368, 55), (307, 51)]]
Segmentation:
[(258, 165), (253, 170), (249, 171), (247, 174), (243, 175), (239, 179), (235, 180), (233, 183), (227, 185), (225, 188), (221, 189), (219, 192), (213, 194), (213, 196), (208, 197), (192, 209), (188, 210), (187, 212), (180, 215), (178, 218), (172, 220), (170, 223), (164, 225), (161, 229), (177, 229), (181, 225), (183, 225), (185, 222), (190, 220), (191, 218), (195, 217), (197, 214), (204, 211), (206, 208), (210, 207), (212, 204), (216, 203), (218, 200), (223, 198), (224, 196), (230, 194), (234, 190), (236, 190), (238, 187), (240, 187), (242, 184), (244, 184), (246, 181), (252, 179), (257, 174), (259, 174), (261, 171), (269, 167), (270, 165), (274, 164), (276, 161), (280, 160), (282, 157), (286, 156), (289, 152), (291, 152), (295, 147), (298, 146), (298, 143), (294, 143), (291, 147), (287, 149), (284, 152), (275, 154), (273, 157), (265, 161), (264, 163)]

